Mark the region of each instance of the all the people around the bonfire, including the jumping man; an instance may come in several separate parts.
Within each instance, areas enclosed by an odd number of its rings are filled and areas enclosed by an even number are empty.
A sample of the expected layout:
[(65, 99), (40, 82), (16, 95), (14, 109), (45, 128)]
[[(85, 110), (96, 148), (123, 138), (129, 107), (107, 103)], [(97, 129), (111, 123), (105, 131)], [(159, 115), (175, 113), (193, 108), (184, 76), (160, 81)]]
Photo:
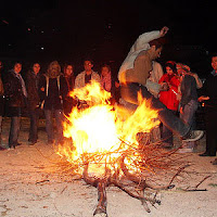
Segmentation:
[[(155, 139), (161, 139), (164, 149), (174, 148), (174, 133), (182, 140), (179, 152), (192, 152), (194, 142), (203, 136), (202, 130), (195, 130), (195, 112), (199, 102), (205, 103), (206, 152), (201, 156), (216, 156), (217, 151), (217, 54), (212, 56), (214, 71), (202, 84), (197, 74), (183, 63), (167, 61), (164, 66), (155, 60), (159, 58), (164, 44), (164, 36), (168, 28), (150, 31), (139, 36), (120, 66), (118, 80), (113, 76), (110, 65), (102, 65), (100, 74), (94, 72), (91, 60), (84, 61), (84, 72), (74, 75), (74, 65), (63, 67), (58, 61), (49, 64), (46, 73), (40, 72), (40, 63), (22, 77), (22, 63), (16, 62), (13, 68), (0, 79), (0, 128), (2, 116), (11, 117), (9, 149), (21, 145), (18, 133), (22, 108), (27, 107), (29, 114), (29, 145), (38, 141), (38, 120), (41, 113), (46, 117), (48, 143), (62, 143), (64, 115), (69, 115), (74, 106), (84, 102), (73, 99), (68, 93), (75, 88), (82, 88), (91, 80), (111, 92), (111, 103), (122, 103), (126, 106), (138, 106), (138, 91), (144, 99), (151, 99), (152, 107), (157, 108), (161, 125)], [(2, 62), (0, 62), (2, 67)], [(197, 95), (201, 89), (202, 95)], [(3, 108), (7, 108), (3, 111)], [(53, 117), (56, 123), (54, 133)], [(1, 135), (1, 131), (0, 131)], [(54, 136), (55, 135), (55, 136)], [(1, 138), (0, 138), (1, 141)], [(5, 148), (0, 146), (0, 150)], [(217, 164), (217, 161), (215, 161)], [(215, 164), (214, 162), (214, 164)]]

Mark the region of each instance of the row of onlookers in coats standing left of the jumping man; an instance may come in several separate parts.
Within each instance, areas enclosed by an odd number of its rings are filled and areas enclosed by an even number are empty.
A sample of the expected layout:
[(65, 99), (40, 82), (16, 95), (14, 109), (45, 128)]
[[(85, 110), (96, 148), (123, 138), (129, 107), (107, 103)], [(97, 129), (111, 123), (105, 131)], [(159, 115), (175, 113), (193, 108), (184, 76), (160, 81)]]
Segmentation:
[[(2, 65), (2, 62), (0, 62)], [(84, 72), (74, 75), (73, 64), (65, 64), (63, 73), (58, 61), (49, 64), (46, 73), (40, 72), (40, 64), (34, 63), (31, 68), (21, 75), (22, 63), (16, 62), (13, 68), (4, 72), (0, 77), (0, 126), (2, 117), (11, 118), (9, 133), (9, 149), (21, 145), (18, 133), (21, 128), (22, 111), (27, 110), (30, 126), (28, 142), (34, 145), (38, 141), (39, 117), (44, 115), (48, 143), (62, 143), (64, 116), (68, 116), (74, 106), (84, 106), (84, 102), (69, 97), (75, 88), (82, 88), (92, 80), (99, 82), (104, 90), (111, 92), (111, 103), (118, 102), (119, 84), (113, 80), (110, 65), (102, 65), (100, 75), (92, 69), (91, 60), (84, 61)], [(4, 111), (5, 108), (5, 111)], [(56, 133), (54, 133), (53, 118)], [(1, 135), (1, 133), (0, 133)], [(1, 140), (0, 140), (1, 141)], [(4, 148), (0, 146), (0, 150)]]

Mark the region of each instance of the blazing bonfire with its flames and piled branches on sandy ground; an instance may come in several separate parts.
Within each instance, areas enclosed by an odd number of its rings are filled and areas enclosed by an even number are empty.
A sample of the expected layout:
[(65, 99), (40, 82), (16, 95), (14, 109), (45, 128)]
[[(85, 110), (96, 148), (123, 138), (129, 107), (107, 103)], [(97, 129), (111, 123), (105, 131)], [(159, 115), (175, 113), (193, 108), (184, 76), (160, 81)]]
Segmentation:
[[(86, 101), (85, 108), (75, 107), (64, 126), (64, 136), (72, 142), (59, 145), (58, 153), (72, 164), (74, 171), (98, 189), (98, 206), (93, 215), (106, 214), (106, 187), (115, 186), (130, 196), (141, 201), (146, 212), (151, 205), (161, 204), (154, 196), (145, 194), (146, 189), (170, 189), (148, 183), (146, 178), (156, 169), (171, 166), (171, 153), (161, 149), (159, 143), (151, 143), (149, 132), (159, 124), (157, 111), (150, 108), (150, 102), (140, 95), (140, 106), (136, 112), (114, 107), (108, 103), (110, 93), (101, 90), (97, 82), (76, 89), (71, 93)], [(137, 189), (127, 188), (127, 179)]]

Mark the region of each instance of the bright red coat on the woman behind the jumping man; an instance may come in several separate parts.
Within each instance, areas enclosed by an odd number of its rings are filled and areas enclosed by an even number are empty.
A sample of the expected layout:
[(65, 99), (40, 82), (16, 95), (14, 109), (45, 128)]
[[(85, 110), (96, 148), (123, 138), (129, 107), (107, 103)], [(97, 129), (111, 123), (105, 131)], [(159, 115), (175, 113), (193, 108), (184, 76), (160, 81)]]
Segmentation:
[(167, 82), (170, 87), (169, 90), (159, 92), (159, 101), (167, 108), (177, 111), (179, 106), (179, 101), (177, 100), (178, 87), (180, 85), (179, 79), (175, 75), (169, 77), (168, 74), (164, 74), (158, 82)]

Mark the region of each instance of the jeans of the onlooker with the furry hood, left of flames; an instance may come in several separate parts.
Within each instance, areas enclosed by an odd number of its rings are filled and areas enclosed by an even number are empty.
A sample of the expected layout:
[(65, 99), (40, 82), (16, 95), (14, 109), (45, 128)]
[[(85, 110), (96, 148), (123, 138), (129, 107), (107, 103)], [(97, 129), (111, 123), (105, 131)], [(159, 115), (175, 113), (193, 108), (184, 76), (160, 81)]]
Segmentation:
[(46, 130), (48, 133), (48, 141), (54, 140), (53, 113), (55, 116), (56, 139), (58, 139), (58, 141), (62, 141), (63, 140), (63, 112), (62, 112), (62, 110), (44, 110)]

